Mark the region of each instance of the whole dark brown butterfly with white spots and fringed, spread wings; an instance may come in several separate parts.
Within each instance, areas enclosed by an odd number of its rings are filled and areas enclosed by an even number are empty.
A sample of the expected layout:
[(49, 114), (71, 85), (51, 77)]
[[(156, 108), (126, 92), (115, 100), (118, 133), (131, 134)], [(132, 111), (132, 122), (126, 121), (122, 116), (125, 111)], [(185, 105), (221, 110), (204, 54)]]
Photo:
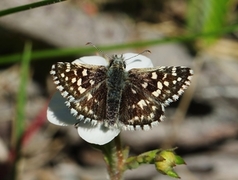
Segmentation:
[(70, 112), (79, 121), (109, 128), (148, 130), (164, 119), (165, 107), (190, 85), (193, 71), (184, 66), (127, 70), (127, 54), (108, 65), (58, 62), (50, 74)]

